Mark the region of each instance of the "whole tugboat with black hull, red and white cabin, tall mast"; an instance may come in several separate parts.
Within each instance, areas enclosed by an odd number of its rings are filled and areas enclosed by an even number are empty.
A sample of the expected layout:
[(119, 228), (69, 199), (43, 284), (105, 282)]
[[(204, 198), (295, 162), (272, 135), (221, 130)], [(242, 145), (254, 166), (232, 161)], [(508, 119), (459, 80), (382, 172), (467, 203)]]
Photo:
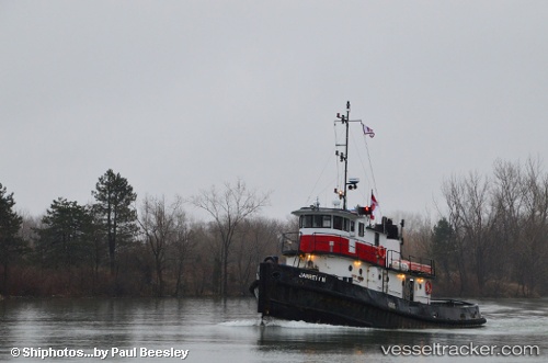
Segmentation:
[[(384, 329), (471, 328), (486, 324), (478, 305), (457, 299), (435, 299), (432, 286), (435, 264), (431, 259), (403, 256), (402, 229), (392, 219), (375, 223), (377, 201), (372, 191), (367, 206), (349, 209), (346, 193), (357, 188), (347, 178), (350, 102), (346, 115), (335, 123), (345, 126), (345, 143), (335, 151), (344, 162), (342, 189), (333, 208), (319, 203), (293, 212), (298, 232), (282, 236), (282, 263), (266, 257), (250, 291), (262, 318), (372, 327)], [(373, 131), (363, 123), (364, 134)], [(374, 134), (373, 134), (374, 135)], [(342, 202), (342, 207), (340, 206)]]

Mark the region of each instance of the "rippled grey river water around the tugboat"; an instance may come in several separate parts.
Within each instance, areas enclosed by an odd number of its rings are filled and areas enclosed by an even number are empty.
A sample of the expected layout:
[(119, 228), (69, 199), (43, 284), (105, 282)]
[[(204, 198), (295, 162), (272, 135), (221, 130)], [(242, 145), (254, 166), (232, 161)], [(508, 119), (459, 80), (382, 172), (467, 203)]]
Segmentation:
[(253, 298), (9, 299), (0, 302), (0, 361), (547, 361), (548, 299), (478, 303), (482, 328), (379, 330), (261, 325)]

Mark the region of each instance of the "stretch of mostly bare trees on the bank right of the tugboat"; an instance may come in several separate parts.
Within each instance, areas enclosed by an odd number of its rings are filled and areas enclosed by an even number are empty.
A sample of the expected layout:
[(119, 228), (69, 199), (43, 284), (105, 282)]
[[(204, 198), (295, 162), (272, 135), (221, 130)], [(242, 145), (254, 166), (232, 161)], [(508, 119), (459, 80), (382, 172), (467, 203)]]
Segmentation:
[(441, 217), (415, 217), (404, 245), (435, 260), (437, 296), (546, 296), (548, 174), (538, 159), (453, 175), (442, 194)]

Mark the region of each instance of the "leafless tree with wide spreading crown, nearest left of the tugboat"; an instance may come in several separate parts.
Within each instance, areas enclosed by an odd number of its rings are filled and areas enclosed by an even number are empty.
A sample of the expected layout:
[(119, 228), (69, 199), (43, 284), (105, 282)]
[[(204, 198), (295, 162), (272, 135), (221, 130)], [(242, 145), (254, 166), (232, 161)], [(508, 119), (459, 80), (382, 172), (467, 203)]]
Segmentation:
[(220, 294), (227, 295), (228, 290), (228, 257), (235, 234), (246, 218), (253, 216), (261, 207), (269, 203), (270, 193), (258, 194), (248, 190), (246, 183), (238, 179), (236, 184), (225, 183), (219, 192), (213, 185), (209, 191), (202, 191), (191, 197), (191, 203), (206, 211), (214, 219), (221, 241), (221, 288)]

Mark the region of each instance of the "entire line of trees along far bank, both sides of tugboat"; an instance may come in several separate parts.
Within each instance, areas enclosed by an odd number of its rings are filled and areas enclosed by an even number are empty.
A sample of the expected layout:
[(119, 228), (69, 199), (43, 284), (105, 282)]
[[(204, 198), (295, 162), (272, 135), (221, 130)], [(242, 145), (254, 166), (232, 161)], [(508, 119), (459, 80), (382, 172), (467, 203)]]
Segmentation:
[[(432, 257), (434, 296), (548, 292), (548, 175), (540, 162), (498, 160), (442, 185), (438, 217), (406, 214), (403, 253)], [(227, 296), (248, 294), (256, 265), (279, 254), (296, 220), (262, 217), (270, 193), (241, 180), (187, 200), (137, 194), (107, 170), (94, 203), (59, 197), (41, 217), (15, 212), (0, 184), (0, 295)], [(193, 220), (183, 206), (203, 209)], [(434, 220), (434, 222), (432, 222)]]

